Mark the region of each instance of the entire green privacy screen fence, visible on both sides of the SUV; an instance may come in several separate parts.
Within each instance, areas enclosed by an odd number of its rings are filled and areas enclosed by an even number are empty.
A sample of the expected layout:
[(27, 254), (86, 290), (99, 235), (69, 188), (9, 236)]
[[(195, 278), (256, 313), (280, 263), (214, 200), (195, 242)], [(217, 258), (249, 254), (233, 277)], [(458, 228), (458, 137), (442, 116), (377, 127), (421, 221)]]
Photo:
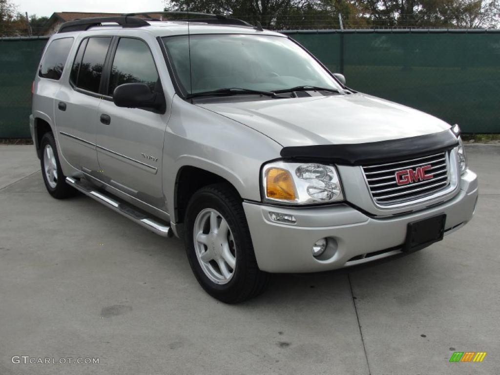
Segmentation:
[[(285, 31), (349, 87), (500, 133), (500, 30)], [(30, 86), (46, 40), (0, 40), (0, 138), (29, 137)]]

